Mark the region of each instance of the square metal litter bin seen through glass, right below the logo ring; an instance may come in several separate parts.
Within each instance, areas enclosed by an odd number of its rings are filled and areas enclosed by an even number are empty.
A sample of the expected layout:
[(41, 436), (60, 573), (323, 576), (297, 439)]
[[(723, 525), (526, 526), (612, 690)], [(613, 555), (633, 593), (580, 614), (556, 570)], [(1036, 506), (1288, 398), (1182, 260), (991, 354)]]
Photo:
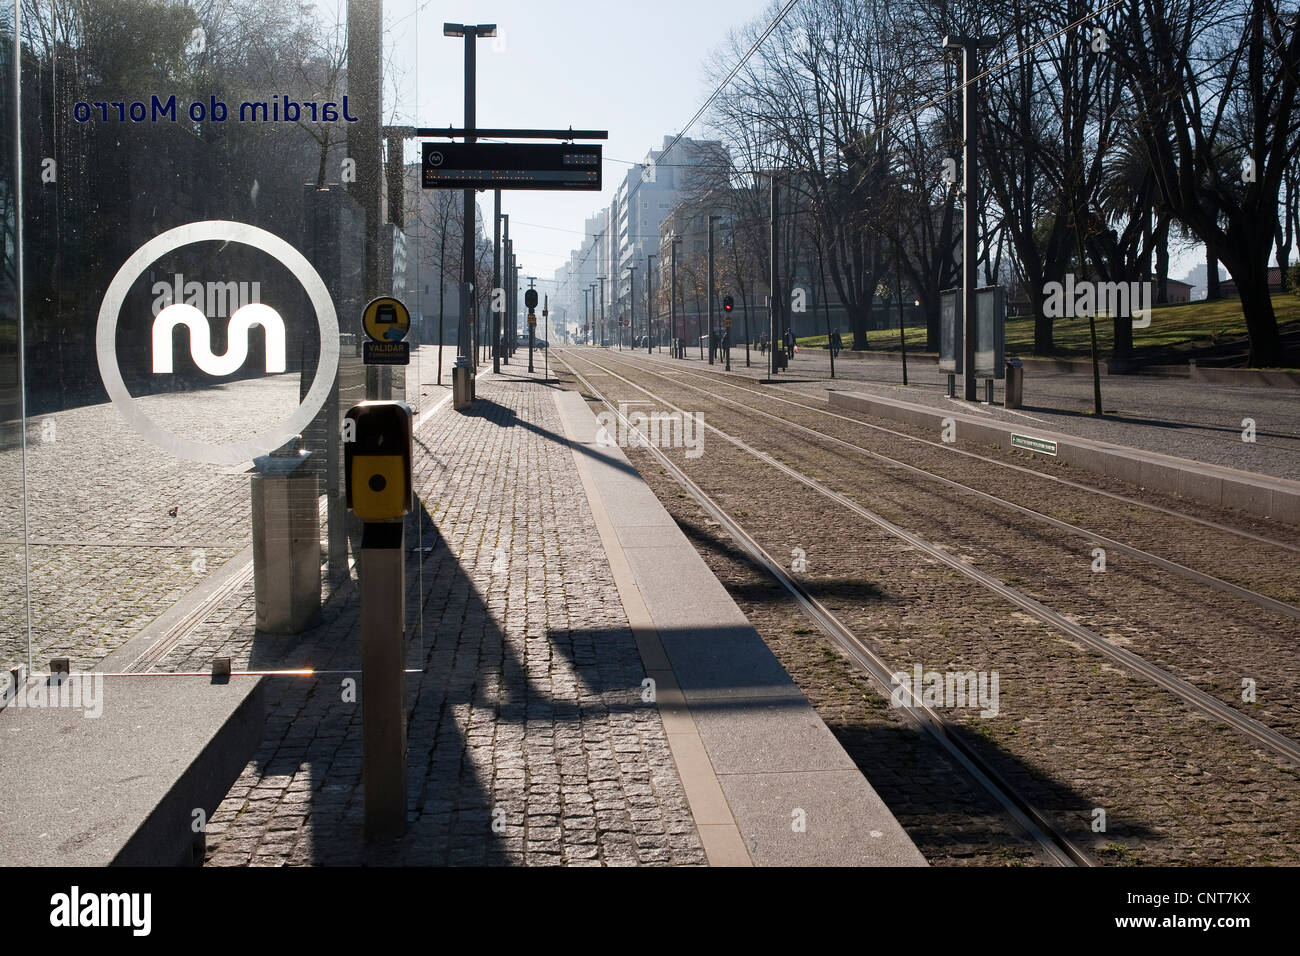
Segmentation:
[(256, 627), (300, 633), (320, 620), (321, 524), (302, 436), (254, 459), (252, 576)]

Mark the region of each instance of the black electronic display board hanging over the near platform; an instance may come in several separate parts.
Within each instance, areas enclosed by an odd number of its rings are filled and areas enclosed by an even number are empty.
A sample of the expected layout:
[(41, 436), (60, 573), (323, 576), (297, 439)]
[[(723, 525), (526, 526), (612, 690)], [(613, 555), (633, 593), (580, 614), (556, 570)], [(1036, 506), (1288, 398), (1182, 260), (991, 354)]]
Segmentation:
[(601, 189), (599, 146), (425, 143), (425, 189)]

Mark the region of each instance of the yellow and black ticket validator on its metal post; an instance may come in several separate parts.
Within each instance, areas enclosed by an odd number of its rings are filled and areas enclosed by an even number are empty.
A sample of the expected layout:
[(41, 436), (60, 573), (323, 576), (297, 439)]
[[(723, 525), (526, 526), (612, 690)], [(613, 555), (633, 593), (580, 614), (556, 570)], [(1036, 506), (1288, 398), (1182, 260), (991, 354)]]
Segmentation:
[(412, 510), (412, 416), (406, 402), (361, 402), (343, 418), (347, 506), (361, 532), (361, 727), (365, 835), (406, 831), (406, 561)]

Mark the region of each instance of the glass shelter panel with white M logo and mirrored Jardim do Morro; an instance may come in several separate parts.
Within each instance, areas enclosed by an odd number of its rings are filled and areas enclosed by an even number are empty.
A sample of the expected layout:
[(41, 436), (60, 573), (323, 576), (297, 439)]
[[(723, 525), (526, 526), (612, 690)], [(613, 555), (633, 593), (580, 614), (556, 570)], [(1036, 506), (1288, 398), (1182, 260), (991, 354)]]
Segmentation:
[(419, 277), (413, 142), (390, 164), (382, 131), (413, 125), (415, 7), (384, 4), (381, 30), (344, 3), (23, 3), (25, 393), (8, 94), (0, 161), (5, 674), (316, 663), (277, 632), (355, 597), (341, 415), (420, 411), (408, 369), (360, 354), (365, 302)]

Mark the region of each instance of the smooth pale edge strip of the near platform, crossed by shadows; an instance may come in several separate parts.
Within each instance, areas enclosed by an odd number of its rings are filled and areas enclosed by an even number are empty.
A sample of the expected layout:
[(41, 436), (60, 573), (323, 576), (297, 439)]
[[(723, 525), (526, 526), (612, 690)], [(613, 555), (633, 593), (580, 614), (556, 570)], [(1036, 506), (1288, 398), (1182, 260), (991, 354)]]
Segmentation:
[[(595, 441), (582, 397), (554, 398), (710, 865), (924, 866), (627, 457)], [(792, 814), (811, 825), (792, 826)]]

